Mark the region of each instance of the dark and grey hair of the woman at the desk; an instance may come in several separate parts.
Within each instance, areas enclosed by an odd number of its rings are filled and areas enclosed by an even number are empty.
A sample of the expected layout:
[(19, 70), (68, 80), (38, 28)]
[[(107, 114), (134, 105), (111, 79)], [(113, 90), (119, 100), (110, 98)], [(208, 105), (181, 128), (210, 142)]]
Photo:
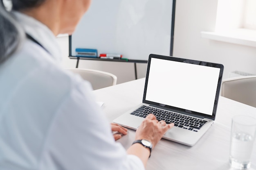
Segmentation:
[[(40, 6), (46, 0), (11, 0), (12, 10), (21, 11)], [(3, 0), (0, 0), (0, 63), (8, 59), (20, 46), (25, 32), (6, 10)]]

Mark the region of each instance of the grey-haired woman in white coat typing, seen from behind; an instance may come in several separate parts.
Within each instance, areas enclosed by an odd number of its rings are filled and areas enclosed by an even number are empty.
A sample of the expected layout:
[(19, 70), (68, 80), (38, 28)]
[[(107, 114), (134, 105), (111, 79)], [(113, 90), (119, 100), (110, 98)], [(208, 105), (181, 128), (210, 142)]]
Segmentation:
[[(150, 114), (128, 150), (94, 102), (91, 87), (60, 66), (55, 36), (72, 34), (90, 0), (0, 0), (0, 169), (144, 169), (173, 124)], [(120, 136), (115, 136), (119, 138)]]

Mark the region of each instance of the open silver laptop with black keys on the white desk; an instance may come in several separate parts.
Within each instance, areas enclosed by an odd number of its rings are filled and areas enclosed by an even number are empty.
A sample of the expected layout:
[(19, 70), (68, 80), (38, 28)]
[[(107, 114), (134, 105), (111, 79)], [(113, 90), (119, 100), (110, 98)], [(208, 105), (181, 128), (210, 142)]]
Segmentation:
[(222, 64), (150, 54), (142, 103), (113, 122), (137, 129), (149, 113), (175, 126), (163, 138), (188, 146), (216, 117)]

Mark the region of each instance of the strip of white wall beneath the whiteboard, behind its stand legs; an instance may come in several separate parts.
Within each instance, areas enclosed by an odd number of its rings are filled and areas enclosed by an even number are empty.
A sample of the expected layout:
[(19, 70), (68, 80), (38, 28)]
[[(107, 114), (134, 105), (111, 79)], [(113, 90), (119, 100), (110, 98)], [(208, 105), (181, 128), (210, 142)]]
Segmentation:
[[(76, 68), (76, 59), (70, 59), (68, 57), (68, 37), (58, 37), (57, 41), (61, 46), (61, 51), (63, 55), (62, 64), (64, 68)], [(147, 64), (136, 63), (136, 65), (137, 78), (145, 77)], [(89, 68), (115, 74), (117, 76), (117, 84), (135, 80), (134, 63), (79, 60), (78, 68)]]

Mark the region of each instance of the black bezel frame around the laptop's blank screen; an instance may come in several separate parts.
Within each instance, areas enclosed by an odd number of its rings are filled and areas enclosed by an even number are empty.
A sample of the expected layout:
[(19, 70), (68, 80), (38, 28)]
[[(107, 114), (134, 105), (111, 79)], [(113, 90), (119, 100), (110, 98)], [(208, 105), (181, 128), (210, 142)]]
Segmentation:
[[(219, 78), (218, 78), (218, 85), (217, 85), (217, 89), (216, 89), (216, 96), (215, 96), (215, 101), (214, 101), (214, 105), (213, 105), (212, 115), (207, 115), (207, 114), (199, 113), (199, 112), (196, 112), (196, 111), (190, 111), (190, 110), (186, 110), (186, 109), (182, 109), (182, 108), (178, 108), (178, 107), (173, 107), (173, 106), (169, 106), (169, 105), (163, 105), (162, 103), (157, 103), (157, 102), (152, 102), (152, 101), (146, 100), (148, 76), (149, 76), (149, 72), (150, 72), (150, 63), (151, 63), (152, 58), (164, 59), (164, 60), (169, 60), (169, 61), (178, 61), (178, 62), (182, 62), (182, 63), (191, 63), (191, 64), (196, 64), (196, 65), (204, 65), (204, 66), (214, 67), (214, 68), (220, 68), (220, 73), (219, 73)], [(143, 94), (143, 103), (150, 104), (150, 105), (155, 105), (155, 106), (159, 106), (159, 107), (164, 106), (164, 108), (167, 108), (167, 109), (170, 109), (170, 110), (173, 110), (173, 111), (177, 111), (177, 112), (181, 112), (181, 113), (187, 113), (187, 114), (192, 115), (192, 116), (200, 116), (200, 117), (204, 117), (204, 118), (209, 118), (211, 120), (215, 120), (217, 106), (218, 106), (218, 99), (219, 99), (219, 94), (220, 94), (220, 85), (221, 85), (221, 81), (222, 81), (223, 70), (224, 70), (224, 65), (218, 64), (218, 63), (210, 63), (210, 62), (196, 61), (196, 60), (191, 60), (191, 59), (182, 59), (182, 58), (177, 58), (177, 57), (150, 54), (149, 58), (148, 58), (146, 82), (145, 82), (144, 94)]]

